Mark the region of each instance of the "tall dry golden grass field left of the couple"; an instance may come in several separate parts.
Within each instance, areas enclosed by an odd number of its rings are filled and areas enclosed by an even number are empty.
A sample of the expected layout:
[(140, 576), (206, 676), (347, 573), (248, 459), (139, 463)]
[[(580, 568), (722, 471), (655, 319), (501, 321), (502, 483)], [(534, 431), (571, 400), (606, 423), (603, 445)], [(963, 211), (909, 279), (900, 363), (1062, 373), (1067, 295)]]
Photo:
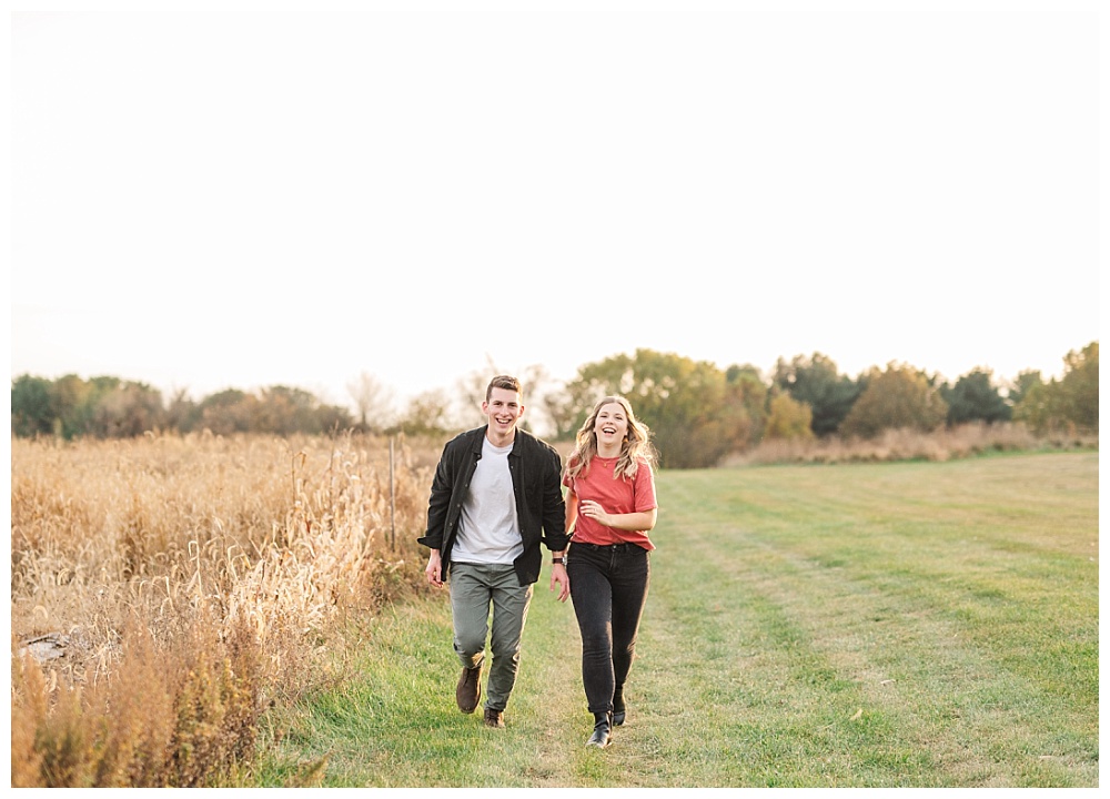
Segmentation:
[[(418, 585), (437, 444), (12, 439), (13, 786), (201, 786)], [(392, 485), (392, 488), (391, 488)]]

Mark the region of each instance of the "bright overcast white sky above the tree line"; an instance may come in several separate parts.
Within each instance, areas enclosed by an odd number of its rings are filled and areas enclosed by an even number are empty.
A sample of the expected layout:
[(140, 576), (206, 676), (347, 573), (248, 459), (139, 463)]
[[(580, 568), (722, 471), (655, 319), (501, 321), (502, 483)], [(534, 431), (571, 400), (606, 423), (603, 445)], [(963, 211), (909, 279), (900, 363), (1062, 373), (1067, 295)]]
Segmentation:
[(10, 3), (13, 377), (1098, 338), (1096, 2), (361, 6)]

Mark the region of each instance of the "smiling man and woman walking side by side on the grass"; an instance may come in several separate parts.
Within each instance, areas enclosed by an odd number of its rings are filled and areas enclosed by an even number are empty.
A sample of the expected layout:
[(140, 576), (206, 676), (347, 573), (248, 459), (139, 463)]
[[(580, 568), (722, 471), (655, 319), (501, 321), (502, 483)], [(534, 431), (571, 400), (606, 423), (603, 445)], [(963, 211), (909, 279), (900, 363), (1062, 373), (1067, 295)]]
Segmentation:
[(586, 746), (606, 747), (627, 715), (624, 687), (655, 548), (647, 535), (657, 510), (648, 429), (625, 398), (604, 397), (564, 469), (552, 446), (517, 427), (524, 402), (515, 377), (491, 381), (482, 412), (487, 424), (444, 447), (427, 533), (417, 539), (432, 550), (428, 583), (450, 587), (463, 667), (455, 700), (463, 712), (477, 708), (488, 635), (484, 720), (505, 726), (543, 544), (552, 552), (551, 590), (558, 588), (559, 601), (571, 598), (582, 634), (582, 680), (594, 716)]

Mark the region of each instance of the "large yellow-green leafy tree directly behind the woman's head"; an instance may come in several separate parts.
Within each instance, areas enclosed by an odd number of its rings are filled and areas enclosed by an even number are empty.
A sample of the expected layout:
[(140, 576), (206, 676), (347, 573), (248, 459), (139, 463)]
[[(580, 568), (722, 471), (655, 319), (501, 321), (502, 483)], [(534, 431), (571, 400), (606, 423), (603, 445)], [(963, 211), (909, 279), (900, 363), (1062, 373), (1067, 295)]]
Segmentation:
[(670, 353), (637, 350), (578, 370), (567, 385), (575, 428), (598, 400), (623, 394), (654, 434), (660, 464), (670, 468), (715, 465), (739, 445), (749, 424), (719, 368)]

